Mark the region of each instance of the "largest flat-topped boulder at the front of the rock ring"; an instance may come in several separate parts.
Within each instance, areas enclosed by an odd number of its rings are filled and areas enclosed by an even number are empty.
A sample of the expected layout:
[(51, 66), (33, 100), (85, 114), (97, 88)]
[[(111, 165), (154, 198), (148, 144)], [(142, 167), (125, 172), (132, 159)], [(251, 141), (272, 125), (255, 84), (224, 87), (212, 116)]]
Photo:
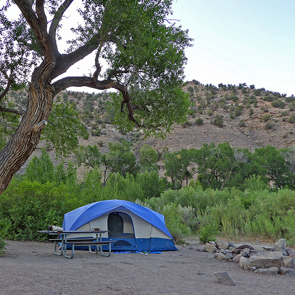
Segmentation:
[(251, 256), (245, 263), (244, 268), (248, 270), (250, 267), (255, 266), (256, 268), (268, 268), (277, 267), (278, 269), (283, 264), (282, 252), (262, 252)]

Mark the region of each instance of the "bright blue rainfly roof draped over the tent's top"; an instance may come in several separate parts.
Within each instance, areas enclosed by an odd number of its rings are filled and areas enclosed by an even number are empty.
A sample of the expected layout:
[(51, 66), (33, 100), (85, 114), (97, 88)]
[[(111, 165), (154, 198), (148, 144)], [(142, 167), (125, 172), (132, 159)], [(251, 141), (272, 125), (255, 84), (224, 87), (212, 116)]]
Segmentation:
[(172, 238), (165, 225), (165, 219), (162, 214), (147, 207), (122, 200), (106, 200), (95, 202), (70, 211), (64, 214), (62, 227), (65, 231), (75, 231), (82, 225), (107, 212), (110, 212), (114, 209), (124, 210), (124, 208), (132, 211)]

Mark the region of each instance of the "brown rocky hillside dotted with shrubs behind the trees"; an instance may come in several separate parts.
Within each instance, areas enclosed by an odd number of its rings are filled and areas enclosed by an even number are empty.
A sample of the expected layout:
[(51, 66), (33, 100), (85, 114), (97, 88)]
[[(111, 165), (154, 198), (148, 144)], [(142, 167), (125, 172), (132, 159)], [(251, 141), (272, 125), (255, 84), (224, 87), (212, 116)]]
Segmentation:
[[(122, 139), (131, 141), (135, 149), (148, 144), (158, 152), (163, 152), (163, 148), (175, 151), (225, 141), (237, 148), (251, 150), (266, 145), (285, 148), (295, 144), (294, 96), (256, 89), (254, 85), (219, 84), (217, 87), (195, 80), (186, 82), (183, 89), (190, 95), (190, 114), (187, 121), (175, 125), (164, 140), (143, 140), (143, 136), (136, 131), (126, 134), (124, 130), (117, 130), (112, 125), (112, 114), (106, 111), (108, 93), (64, 91), (59, 98), (64, 102), (75, 102), (81, 119), (87, 125), (89, 139), (81, 139), (80, 144), (97, 144), (102, 150), (107, 150), (110, 141)], [(19, 108), (22, 108), (26, 95), (18, 95)], [(41, 147), (44, 147), (43, 143), (40, 143)], [(54, 151), (48, 150), (54, 158)], [(39, 151), (36, 150), (36, 153)]]

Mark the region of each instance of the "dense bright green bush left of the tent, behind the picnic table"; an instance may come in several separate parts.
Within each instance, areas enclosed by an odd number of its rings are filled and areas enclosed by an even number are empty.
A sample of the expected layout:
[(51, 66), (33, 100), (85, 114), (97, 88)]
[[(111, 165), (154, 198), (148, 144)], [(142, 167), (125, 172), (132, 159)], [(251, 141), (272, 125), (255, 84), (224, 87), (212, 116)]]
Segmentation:
[(0, 199), (1, 219), (11, 223), (7, 238), (45, 240), (37, 230), (45, 230), (49, 224), (61, 226), (64, 213), (73, 209), (67, 206), (67, 189), (62, 188), (50, 182), (13, 181)]

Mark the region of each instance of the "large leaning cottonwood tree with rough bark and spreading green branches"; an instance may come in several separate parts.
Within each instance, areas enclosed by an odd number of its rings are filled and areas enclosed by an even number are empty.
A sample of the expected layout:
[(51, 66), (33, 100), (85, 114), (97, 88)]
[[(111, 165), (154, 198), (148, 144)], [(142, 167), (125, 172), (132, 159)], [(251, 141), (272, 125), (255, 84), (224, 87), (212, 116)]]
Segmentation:
[[(0, 194), (36, 148), (53, 99), (64, 89), (117, 90), (112, 106), (125, 129), (138, 126), (163, 135), (173, 122), (184, 119), (184, 49), (191, 40), (169, 20), (172, 0), (1, 2), (0, 113), (21, 119), (0, 151)], [(11, 20), (10, 6), (15, 5), (20, 17)], [(73, 19), (71, 8), (79, 17)], [(66, 49), (61, 48), (65, 40)], [(60, 77), (89, 55), (93, 64), (88, 76)], [(28, 106), (23, 114), (7, 106), (5, 97), (9, 89), (26, 85)]]

